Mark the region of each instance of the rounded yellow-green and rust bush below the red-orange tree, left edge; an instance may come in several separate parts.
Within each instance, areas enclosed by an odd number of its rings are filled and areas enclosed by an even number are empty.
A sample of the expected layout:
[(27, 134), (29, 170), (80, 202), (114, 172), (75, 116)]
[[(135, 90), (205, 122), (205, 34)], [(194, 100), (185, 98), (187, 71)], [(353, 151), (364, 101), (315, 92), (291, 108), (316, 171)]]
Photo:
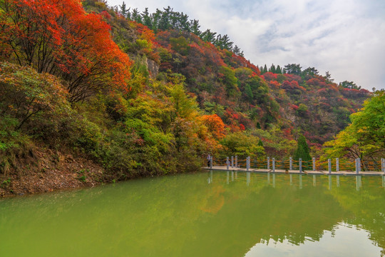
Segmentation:
[[(61, 119), (71, 114), (68, 92), (54, 76), (29, 67), (0, 63), (1, 113), (14, 119), (14, 129), (51, 138)], [(45, 133), (45, 135), (43, 135)]]

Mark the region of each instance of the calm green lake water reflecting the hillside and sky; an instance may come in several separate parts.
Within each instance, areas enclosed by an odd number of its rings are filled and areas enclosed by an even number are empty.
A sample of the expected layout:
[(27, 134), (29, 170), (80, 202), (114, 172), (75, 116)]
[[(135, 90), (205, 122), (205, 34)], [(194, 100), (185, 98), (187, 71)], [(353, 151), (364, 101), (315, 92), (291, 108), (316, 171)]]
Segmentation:
[(381, 176), (203, 172), (0, 200), (0, 256), (382, 256)]

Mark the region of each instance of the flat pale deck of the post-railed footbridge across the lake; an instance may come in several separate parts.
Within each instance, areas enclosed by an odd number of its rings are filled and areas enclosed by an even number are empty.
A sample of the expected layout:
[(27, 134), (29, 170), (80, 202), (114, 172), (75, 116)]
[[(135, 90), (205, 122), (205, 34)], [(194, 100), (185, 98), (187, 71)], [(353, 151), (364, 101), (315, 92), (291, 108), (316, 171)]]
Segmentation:
[[(210, 170), (208, 167), (202, 167), (205, 170)], [(227, 170), (227, 166), (212, 166), (213, 171), (241, 171), (241, 172), (247, 172), (246, 168), (232, 168), (229, 167)], [(273, 173), (272, 169), (266, 169), (266, 168), (250, 168), (249, 172), (255, 172), (255, 173)], [(288, 173), (288, 174), (300, 174), (297, 170), (282, 170), (282, 169), (276, 169), (275, 173)], [(354, 171), (332, 171), (329, 173), (329, 171), (302, 171), (303, 174), (308, 175), (340, 175), (340, 176), (356, 176), (357, 173)], [(360, 171), (358, 173), (359, 176), (384, 176), (384, 172), (381, 171)]]

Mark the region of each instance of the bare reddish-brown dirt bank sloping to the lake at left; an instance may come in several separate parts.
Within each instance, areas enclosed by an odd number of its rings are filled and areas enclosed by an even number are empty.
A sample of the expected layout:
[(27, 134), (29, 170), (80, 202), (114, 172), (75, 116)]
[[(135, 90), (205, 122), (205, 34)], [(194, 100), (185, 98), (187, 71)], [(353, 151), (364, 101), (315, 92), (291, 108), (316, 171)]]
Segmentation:
[(92, 187), (103, 183), (103, 168), (71, 153), (39, 149), (18, 158), (14, 168), (0, 176), (0, 197)]

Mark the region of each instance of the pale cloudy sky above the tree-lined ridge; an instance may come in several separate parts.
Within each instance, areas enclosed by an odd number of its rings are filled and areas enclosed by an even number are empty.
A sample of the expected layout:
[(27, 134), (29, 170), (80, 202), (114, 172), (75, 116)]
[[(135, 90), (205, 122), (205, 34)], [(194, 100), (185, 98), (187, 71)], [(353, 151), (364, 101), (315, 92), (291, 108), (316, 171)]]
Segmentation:
[[(170, 6), (229, 35), (258, 66), (301, 64), (334, 82), (385, 89), (384, 0), (124, 0), (150, 12)], [(123, 0), (107, 0), (118, 6)]]

